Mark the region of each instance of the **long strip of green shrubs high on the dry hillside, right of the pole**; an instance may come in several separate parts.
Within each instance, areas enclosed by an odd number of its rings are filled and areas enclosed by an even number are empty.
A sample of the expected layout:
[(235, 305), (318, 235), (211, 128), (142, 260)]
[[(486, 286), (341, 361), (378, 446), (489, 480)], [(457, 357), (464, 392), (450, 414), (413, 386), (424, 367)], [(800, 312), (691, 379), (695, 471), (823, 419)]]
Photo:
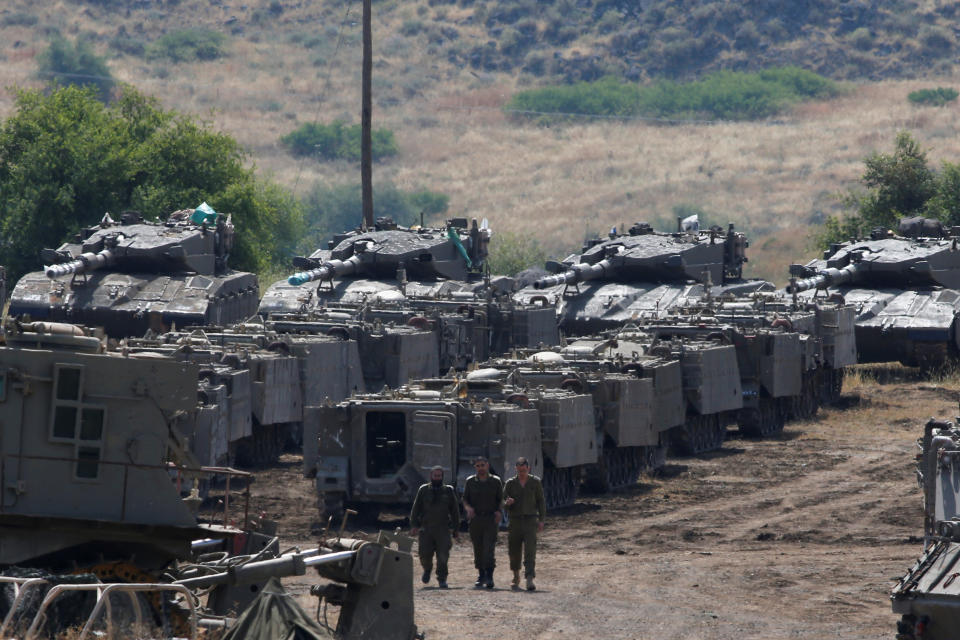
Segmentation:
[(581, 116), (756, 120), (839, 92), (835, 82), (812, 71), (781, 67), (757, 73), (720, 71), (693, 82), (661, 80), (649, 86), (608, 77), (531, 89), (514, 94), (506, 110), (548, 122)]

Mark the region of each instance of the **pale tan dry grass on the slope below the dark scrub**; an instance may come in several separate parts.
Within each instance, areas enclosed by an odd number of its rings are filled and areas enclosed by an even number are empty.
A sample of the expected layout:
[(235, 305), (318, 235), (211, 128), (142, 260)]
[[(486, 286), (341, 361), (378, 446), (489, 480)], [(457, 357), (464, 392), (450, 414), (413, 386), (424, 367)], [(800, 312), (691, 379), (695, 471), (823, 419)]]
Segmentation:
[[(27, 10), (25, 2), (11, 4)], [(229, 17), (242, 20), (267, 5), (183, 0), (163, 12), (125, 16), (59, 2), (35, 12), (41, 25), (58, 25), (68, 35), (94, 32), (106, 40), (120, 24), (130, 32), (139, 24), (149, 40), (188, 22), (223, 29)], [(426, 0), (382, 5), (386, 17), (375, 21), (376, 42), (388, 49), (374, 68), (375, 126), (393, 129), (401, 149), (399, 158), (375, 168), (375, 178), (447, 193), (451, 214), (486, 217), (494, 229), (535, 235), (557, 255), (612, 225), (648, 220), (669, 228), (673, 207), (696, 205), (707, 212), (706, 222), (732, 221), (750, 233), (750, 275), (783, 282), (787, 264), (812, 254), (811, 225), (838, 211), (835, 194), (855, 186), (867, 154), (892, 149), (897, 131), (909, 129), (935, 163), (960, 156), (957, 107), (918, 109), (906, 100), (915, 89), (957, 81), (950, 77), (857, 85), (845, 97), (806, 104), (769, 122), (518, 124), (499, 110), (516, 79), (452, 68), (418, 48), (419, 41), (398, 36), (398, 25), (419, 15), (421, 5)], [(429, 15), (436, 10), (420, 9)], [(451, 7), (448, 17), (455, 12), (463, 20), (471, 11)], [(118, 58), (111, 68), (165, 106), (207, 118), (235, 136), (260, 172), (298, 193), (320, 180), (356, 180), (354, 165), (297, 160), (277, 142), (303, 122), (358, 120), (359, 8), (348, 17), (335, 55), (341, 32), (318, 16), (313, 5), (291, 6), (274, 23), (232, 37), (231, 56), (217, 62)], [(316, 51), (288, 41), (294, 31), (327, 39), (325, 64), (316, 66)], [(469, 26), (460, 31), (465, 46), (480, 38)], [(34, 56), (45, 44), (37, 28), (6, 27), (0, 35), (6, 43), (0, 47), (3, 86), (37, 86)], [(159, 67), (166, 78), (157, 77)], [(0, 94), (0, 116), (11, 110), (9, 92)]]

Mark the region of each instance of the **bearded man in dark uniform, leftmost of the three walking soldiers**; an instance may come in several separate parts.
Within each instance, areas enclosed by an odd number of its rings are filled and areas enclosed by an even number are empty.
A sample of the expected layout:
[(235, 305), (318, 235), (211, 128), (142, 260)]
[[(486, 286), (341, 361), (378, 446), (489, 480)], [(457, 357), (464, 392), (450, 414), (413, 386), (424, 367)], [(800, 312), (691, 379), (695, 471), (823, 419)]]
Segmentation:
[(420, 534), (418, 550), (423, 584), (430, 582), (433, 554), (437, 554), (437, 584), (447, 588), (450, 547), (460, 528), (460, 507), (453, 487), (443, 484), (443, 467), (430, 469), (430, 482), (421, 485), (410, 509), (410, 535)]

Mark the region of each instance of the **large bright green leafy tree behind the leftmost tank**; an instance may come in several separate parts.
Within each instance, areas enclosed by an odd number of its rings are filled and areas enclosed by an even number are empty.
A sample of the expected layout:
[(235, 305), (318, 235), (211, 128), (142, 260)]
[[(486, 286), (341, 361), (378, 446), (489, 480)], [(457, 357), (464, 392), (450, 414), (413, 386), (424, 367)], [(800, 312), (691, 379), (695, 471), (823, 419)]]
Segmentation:
[(295, 252), (302, 212), (245, 160), (233, 138), (129, 87), (110, 105), (90, 88), (20, 91), (0, 128), (0, 264), (19, 277), (105, 212), (163, 218), (206, 201), (233, 214), (232, 265), (267, 271)]

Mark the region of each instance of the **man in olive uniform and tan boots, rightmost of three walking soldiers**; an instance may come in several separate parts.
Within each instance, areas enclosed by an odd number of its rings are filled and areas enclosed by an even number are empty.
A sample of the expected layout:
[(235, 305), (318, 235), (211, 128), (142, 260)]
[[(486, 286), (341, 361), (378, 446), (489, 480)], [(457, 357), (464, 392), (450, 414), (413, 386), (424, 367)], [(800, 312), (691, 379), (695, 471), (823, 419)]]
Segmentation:
[(503, 504), (510, 517), (507, 550), (510, 570), (513, 571), (511, 588), (514, 591), (520, 588), (522, 558), (527, 591), (533, 591), (537, 588), (533, 583), (536, 577), (537, 533), (543, 531), (547, 503), (543, 498), (543, 483), (537, 476), (530, 475), (530, 463), (526, 458), (517, 458), (517, 475), (507, 480), (503, 495), (506, 497)]

